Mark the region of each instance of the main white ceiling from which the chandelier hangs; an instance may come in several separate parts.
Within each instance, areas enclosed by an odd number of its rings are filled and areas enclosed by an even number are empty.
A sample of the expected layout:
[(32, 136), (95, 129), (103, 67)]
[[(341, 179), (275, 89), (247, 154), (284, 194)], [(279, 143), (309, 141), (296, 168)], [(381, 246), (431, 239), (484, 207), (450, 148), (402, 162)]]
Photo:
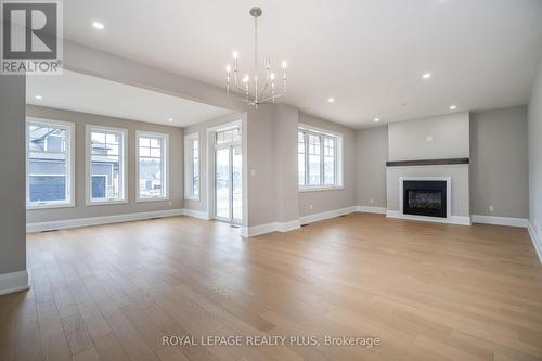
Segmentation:
[[(254, 0), (69, 0), (66, 38), (223, 87), (249, 69)], [(260, 0), (260, 54), (289, 64), (284, 101), (352, 127), (526, 104), (540, 0)], [(92, 28), (100, 21), (103, 31)], [(433, 77), (423, 81), (421, 75)], [(335, 103), (327, 103), (334, 96)], [(405, 104), (405, 105), (402, 105)]]

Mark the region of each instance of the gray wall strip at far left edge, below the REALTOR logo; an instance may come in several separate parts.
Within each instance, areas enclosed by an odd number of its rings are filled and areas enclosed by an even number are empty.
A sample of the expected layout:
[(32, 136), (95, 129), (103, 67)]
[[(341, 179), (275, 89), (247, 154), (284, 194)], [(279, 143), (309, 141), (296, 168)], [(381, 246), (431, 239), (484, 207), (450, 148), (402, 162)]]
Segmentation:
[(0, 275), (26, 270), (25, 91), (24, 76), (0, 76)]

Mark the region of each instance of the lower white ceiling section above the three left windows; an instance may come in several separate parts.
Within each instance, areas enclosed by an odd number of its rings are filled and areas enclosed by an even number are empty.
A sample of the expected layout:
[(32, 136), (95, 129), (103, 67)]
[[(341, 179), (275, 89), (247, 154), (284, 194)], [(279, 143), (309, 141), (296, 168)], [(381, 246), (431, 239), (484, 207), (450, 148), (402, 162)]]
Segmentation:
[[(38, 100), (36, 95), (42, 99)], [(68, 70), (59, 76), (28, 76), (26, 102), (178, 127), (231, 113), (221, 107)]]

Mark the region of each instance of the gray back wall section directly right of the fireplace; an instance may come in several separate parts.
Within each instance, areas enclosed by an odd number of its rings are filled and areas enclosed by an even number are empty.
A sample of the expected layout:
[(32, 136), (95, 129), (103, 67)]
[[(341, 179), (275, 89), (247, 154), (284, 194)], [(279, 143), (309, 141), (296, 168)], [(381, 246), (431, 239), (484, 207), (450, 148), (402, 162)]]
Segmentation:
[(526, 106), (472, 113), (473, 215), (528, 218), (528, 168)]

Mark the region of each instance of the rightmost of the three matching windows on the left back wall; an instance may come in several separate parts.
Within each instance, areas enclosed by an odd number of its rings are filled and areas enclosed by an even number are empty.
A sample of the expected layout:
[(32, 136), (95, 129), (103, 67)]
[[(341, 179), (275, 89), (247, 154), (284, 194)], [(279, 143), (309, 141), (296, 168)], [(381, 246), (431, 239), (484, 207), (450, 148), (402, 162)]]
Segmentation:
[(168, 136), (138, 131), (138, 201), (168, 198)]

